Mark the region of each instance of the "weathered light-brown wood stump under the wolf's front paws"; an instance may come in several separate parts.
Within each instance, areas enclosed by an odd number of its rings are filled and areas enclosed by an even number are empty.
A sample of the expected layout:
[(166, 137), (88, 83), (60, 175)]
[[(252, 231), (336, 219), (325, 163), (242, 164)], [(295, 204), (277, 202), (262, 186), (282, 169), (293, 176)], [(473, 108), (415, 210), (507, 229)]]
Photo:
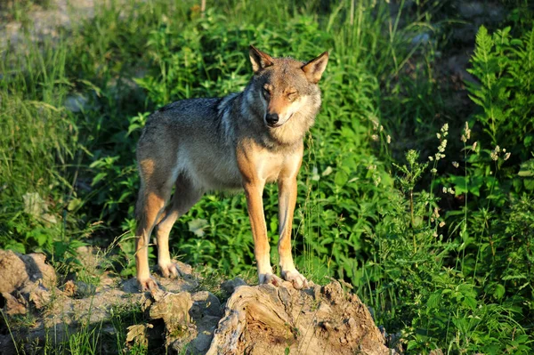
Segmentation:
[(367, 307), (334, 281), (292, 286), (240, 286), (226, 303), (208, 355), (389, 354)]

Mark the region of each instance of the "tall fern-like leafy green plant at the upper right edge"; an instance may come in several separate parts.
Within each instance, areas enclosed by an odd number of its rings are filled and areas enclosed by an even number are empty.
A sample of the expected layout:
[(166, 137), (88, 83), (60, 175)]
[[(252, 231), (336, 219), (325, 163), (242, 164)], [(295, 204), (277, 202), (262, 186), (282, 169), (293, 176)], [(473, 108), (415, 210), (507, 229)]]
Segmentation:
[(507, 27), (490, 36), (481, 26), (473, 68), (468, 69), (481, 83), (468, 88), (469, 97), (482, 109), (475, 118), (491, 145), (506, 143), (514, 147), (512, 154), (524, 158), (534, 147), (534, 28), (522, 38), (512, 38), (510, 31)]

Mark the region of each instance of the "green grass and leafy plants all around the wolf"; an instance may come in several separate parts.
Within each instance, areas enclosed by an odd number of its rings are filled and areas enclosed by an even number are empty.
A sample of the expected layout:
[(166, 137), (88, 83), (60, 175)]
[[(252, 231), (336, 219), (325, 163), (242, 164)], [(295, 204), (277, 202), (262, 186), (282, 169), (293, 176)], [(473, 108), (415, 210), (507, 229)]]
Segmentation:
[[(532, 353), (528, 3), (478, 30), (460, 109), (440, 61), (456, 24), (433, 25), (447, 6), (225, 0), (203, 17), (197, 3), (110, 1), (57, 39), (0, 49), (0, 247), (69, 269), (81, 243), (120, 237), (113, 268), (133, 275), (134, 147), (150, 111), (241, 90), (248, 44), (302, 60), (328, 50), (300, 173), (300, 269), (352, 283), (408, 353)], [(412, 42), (425, 31), (440, 40)], [(264, 205), (274, 244), (276, 187)], [(206, 196), (172, 235), (183, 262), (229, 277), (254, 268), (242, 195)], [(71, 345), (97, 351), (92, 332)], [(59, 352), (85, 353), (72, 346)]]

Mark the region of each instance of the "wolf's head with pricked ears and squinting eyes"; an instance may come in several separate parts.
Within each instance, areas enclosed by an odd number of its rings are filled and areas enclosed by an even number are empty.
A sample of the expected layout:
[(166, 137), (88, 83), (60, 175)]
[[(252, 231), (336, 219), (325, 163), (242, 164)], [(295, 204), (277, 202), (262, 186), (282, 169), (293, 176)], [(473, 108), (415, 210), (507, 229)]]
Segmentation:
[(272, 58), (251, 45), (249, 56), (254, 69), (250, 94), (263, 106), (264, 124), (271, 129), (281, 128), (293, 118), (307, 131), (320, 108), (317, 83), (327, 68), (328, 52), (303, 62)]

